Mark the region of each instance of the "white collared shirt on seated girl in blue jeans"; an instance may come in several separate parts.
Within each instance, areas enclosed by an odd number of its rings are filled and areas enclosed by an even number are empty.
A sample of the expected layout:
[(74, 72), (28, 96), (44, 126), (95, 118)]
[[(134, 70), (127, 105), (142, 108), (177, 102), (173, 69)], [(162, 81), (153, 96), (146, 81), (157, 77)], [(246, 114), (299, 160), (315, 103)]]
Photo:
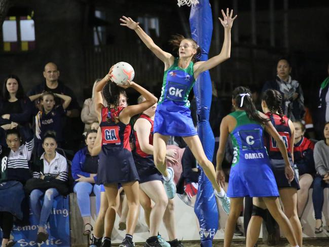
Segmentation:
[(59, 176), (59, 180), (68, 181), (67, 161), (64, 156), (56, 152), (55, 158), (49, 163), (45, 159), (45, 153), (43, 153), (40, 160), (43, 165), (40, 166), (40, 171), (33, 171), (33, 178), (40, 179), (41, 175), (44, 175), (44, 180), (47, 181)]

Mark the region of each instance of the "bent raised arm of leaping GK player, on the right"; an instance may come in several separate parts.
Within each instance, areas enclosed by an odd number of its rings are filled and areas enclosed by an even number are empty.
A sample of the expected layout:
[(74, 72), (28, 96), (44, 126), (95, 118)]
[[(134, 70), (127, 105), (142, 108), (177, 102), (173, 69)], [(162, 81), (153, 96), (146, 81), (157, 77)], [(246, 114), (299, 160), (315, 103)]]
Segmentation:
[(226, 14), (222, 10), (222, 14), (223, 14), (223, 19), (222, 18), (219, 18), (219, 19), (220, 19), (222, 25), (224, 26), (225, 34), (224, 34), (224, 43), (223, 43), (221, 53), (218, 54), (217, 56), (210, 58), (207, 61), (196, 62), (194, 64), (194, 77), (195, 78), (197, 78), (200, 75), (200, 73), (217, 66), (218, 64), (229, 59), (231, 56), (231, 28), (233, 25), (233, 21), (237, 18), (237, 15), (235, 15), (232, 18), (233, 10), (231, 10), (231, 13), (230, 13), (229, 8), (227, 8)]

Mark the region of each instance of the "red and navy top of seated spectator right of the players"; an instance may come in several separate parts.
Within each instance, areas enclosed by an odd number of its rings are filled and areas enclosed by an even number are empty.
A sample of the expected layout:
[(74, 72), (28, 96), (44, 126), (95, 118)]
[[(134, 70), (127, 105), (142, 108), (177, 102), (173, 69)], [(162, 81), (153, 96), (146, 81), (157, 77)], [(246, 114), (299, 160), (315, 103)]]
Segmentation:
[(294, 162), (297, 165), (300, 176), (308, 173), (314, 177), (316, 174), (313, 150), (314, 143), (306, 137), (302, 137), (302, 139), (295, 144)]

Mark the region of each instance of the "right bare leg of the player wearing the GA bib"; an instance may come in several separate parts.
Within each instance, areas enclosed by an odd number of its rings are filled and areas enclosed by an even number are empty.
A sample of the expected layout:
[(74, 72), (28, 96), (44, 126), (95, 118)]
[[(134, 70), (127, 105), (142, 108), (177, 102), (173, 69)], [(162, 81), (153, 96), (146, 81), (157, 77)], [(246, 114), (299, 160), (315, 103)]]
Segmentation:
[(137, 181), (123, 184), (128, 201), (127, 234), (133, 235), (139, 213), (139, 185)]

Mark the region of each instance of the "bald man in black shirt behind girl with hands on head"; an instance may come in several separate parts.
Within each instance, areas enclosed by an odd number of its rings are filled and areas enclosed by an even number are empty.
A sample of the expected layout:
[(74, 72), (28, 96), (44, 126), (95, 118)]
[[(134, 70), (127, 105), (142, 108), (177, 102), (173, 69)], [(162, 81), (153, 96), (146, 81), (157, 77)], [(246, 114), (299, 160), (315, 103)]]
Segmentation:
[[(80, 119), (80, 106), (77, 101), (77, 97), (74, 92), (60, 82), (59, 69), (57, 65), (53, 62), (49, 62), (45, 65), (43, 76), (45, 81), (39, 85), (33, 87), (27, 95), (30, 96), (31, 101), (35, 100), (35, 103), (38, 104), (39, 97), (45, 91), (52, 92), (54, 94), (62, 94), (71, 97), (71, 102), (69, 103), (64, 118), (63, 118), (63, 133), (65, 135), (65, 140), (63, 143), (63, 148), (67, 150), (78, 151), (79, 145), (77, 143), (81, 142), (81, 133), (83, 132), (83, 123)], [(61, 105), (62, 99), (60, 97), (55, 98), (55, 106)], [(33, 113), (35, 116), (36, 112)], [(65, 117), (66, 116), (66, 117)]]

